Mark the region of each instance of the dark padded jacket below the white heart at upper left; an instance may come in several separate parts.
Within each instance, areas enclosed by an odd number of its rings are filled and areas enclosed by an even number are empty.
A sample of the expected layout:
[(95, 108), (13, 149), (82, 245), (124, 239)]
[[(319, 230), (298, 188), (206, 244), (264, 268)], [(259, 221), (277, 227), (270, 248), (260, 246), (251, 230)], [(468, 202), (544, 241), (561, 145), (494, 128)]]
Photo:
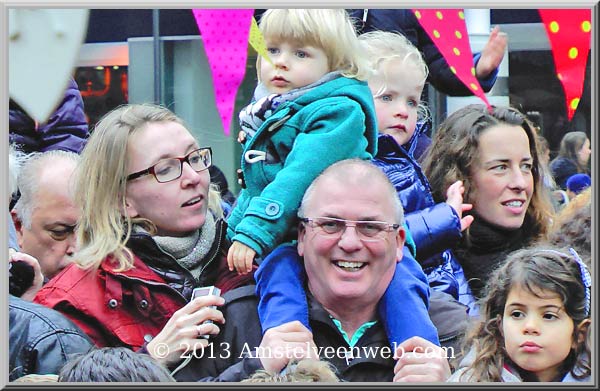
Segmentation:
[(54, 149), (80, 153), (89, 136), (83, 99), (73, 78), (69, 80), (62, 102), (46, 123), (35, 122), (12, 100), (8, 118), (10, 143), (18, 144), (25, 153)]

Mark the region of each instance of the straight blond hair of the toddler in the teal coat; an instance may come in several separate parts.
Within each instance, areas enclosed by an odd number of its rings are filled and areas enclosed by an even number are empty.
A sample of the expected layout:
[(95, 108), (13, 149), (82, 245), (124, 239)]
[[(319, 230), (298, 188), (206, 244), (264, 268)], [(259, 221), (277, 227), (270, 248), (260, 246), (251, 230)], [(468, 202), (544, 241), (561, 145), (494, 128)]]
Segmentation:
[[(289, 40), (322, 49), (330, 71), (363, 81), (369, 78), (354, 24), (344, 9), (269, 9), (262, 15), (259, 28), (265, 39)], [(258, 56), (259, 81), (261, 61)]]

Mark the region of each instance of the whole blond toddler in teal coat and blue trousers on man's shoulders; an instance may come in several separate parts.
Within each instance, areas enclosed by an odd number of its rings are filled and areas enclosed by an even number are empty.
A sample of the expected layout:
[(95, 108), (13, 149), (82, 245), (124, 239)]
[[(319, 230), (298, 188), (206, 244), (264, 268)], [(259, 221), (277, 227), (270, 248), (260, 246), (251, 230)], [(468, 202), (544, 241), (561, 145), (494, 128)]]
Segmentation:
[[(343, 9), (268, 10), (259, 26), (273, 64), (259, 59), (255, 102), (240, 114), (245, 188), (228, 220), (228, 263), (247, 273), (255, 256), (263, 258), (255, 273), (263, 333), (294, 320), (310, 329), (298, 253), (288, 245), (271, 251), (297, 238), (302, 197), (325, 168), (375, 156), (377, 119), (364, 81), (370, 68)], [(414, 251), (408, 233), (407, 243)], [(389, 318), (381, 313), (390, 343), (418, 335), (439, 344), (427, 279), (404, 253), (388, 289), (403, 307)]]

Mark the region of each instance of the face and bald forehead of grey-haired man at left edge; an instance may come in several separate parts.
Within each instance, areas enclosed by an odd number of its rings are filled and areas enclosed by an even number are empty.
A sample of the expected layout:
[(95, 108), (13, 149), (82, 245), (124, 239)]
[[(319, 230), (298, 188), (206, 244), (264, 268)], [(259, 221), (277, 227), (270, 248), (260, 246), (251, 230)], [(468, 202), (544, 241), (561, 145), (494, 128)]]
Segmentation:
[(74, 228), (79, 210), (73, 204), (70, 182), (74, 167), (58, 165), (40, 178), (31, 213), (31, 228), (15, 220), (21, 251), (34, 256), (46, 278), (52, 278), (72, 262)]

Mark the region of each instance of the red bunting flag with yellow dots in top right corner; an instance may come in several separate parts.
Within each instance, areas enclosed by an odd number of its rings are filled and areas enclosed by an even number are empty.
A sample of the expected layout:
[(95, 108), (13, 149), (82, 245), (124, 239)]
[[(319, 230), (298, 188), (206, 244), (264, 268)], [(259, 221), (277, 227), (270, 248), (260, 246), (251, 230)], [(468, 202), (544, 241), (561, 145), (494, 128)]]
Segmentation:
[(589, 9), (540, 9), (552, 48), (556, 76), (565, 91), (567, 116), (573, 118), (583, 91), (590, 51), (592, 12)]

